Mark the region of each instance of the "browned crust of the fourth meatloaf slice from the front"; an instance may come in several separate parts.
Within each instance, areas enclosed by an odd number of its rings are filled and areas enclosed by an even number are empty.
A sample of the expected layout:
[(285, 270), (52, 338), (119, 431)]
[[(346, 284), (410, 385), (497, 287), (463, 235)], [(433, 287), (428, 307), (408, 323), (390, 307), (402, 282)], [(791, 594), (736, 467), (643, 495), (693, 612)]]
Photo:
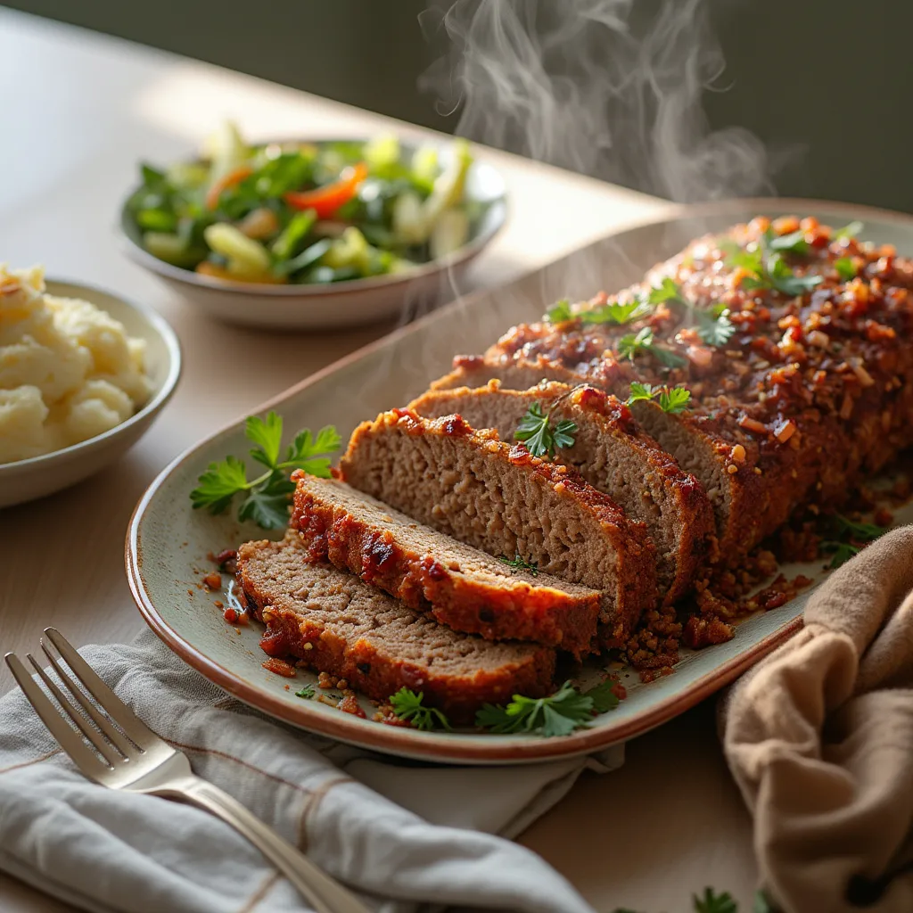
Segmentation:
[(409, 408), (429, 418), (461, 415), (474, 428), (494, 428), (501, 440), (509, 441), (537, 403), (555, 421), (567, 419), (577, 426), (572, 446), (559, 448), (556, 458), (613, 498), (629, 517), (645, 523), (656, 545), (659, 593), (674, 603), (687, 593), (708, 555), (713, 510), (698, 480), (682, 472), (615, 396), (589, 384), (546, 381), (518, 391), (493, 380), (475, 390), (432, 391)]

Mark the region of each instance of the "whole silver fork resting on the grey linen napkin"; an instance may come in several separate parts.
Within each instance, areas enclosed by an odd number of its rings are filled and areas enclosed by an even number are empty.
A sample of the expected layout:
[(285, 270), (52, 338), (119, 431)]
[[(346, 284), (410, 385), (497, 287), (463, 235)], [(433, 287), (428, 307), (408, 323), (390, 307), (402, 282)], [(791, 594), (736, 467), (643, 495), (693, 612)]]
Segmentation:
[(79, 712), (34, 656), (28, 654), (27, 659), (95, 751), (89, 749), (79, 733), (54, 707), (16, 654), (6, 654), (6, 665), (51, 735), (89, 780), (114, 790), (151, 793), (204, 808), (247, 837), (298, 888), (317, 913), (368, 913), (357, 897), (248, 812), (244, 805), (212, 783), (197, 777), (184, 752), (173, 749), (152, 732), (92, 671), (56, 628), (45, 628), (45, 634), (66, 661), (73, 676), (108, 714), (107, 717), (101, 714), (86, 698), (42, 637), (41, 649), (48, 662), (83, 712)]

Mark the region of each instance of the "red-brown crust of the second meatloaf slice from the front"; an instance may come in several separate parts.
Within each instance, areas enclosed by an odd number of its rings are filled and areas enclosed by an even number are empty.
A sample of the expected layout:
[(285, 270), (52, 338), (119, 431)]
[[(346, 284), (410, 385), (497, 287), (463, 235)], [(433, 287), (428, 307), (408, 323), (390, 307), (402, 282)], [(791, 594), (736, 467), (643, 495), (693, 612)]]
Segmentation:
[(469, 576), (452, 562), (407, 549), (391, 530), (333, 503), (331, 487), (340, 483), (303, 474), (297, 481), (291, 526), (308, 545), (311, 561), (331, 561), (455, 631), (559, 646), (578, 657), (590, 652), (599, 593), (564, 593), (545, 583)]

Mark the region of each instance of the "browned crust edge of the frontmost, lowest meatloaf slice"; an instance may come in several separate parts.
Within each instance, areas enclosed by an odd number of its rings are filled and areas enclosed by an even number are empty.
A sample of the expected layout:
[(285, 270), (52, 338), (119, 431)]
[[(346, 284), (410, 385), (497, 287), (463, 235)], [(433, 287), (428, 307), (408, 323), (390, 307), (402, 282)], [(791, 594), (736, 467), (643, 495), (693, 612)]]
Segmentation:
[(425, 704), (443, 710), (456, 724), (471, 723), (485, 703), (504, 703), (513, 694), (539, 698), (551, 693), (555, 653), (530, 645), (523, 662), (507, 663), (495, 672), (463, 676), (440, 675), (433, 666), (418, 666), (387, 656), (368, 639), (349, 643), (328, 626), (309, 619), (304, 603), (286, 593), (261, 589), (248, 573), (248, 564), (281, 542), (246, 542), (238, 549), (237, 581), (257, 619), (267, 626), (261, 642), (268, 656), (295, 656), (317, 672), (345, 678), (350, 687), (375, 700), (386, 700), (401, 687), (421, 691)]

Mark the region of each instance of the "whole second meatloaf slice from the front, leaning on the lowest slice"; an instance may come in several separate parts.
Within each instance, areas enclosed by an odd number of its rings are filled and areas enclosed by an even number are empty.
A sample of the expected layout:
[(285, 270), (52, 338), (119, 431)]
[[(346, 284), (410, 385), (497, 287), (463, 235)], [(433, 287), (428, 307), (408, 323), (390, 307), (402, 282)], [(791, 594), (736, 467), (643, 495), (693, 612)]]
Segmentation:
[(331, 561), (456, 631), (531, 640), (575, 656), (596, 636), (600, 593), (512, 570), (335, 479), (296, 473), (291, 526)]

